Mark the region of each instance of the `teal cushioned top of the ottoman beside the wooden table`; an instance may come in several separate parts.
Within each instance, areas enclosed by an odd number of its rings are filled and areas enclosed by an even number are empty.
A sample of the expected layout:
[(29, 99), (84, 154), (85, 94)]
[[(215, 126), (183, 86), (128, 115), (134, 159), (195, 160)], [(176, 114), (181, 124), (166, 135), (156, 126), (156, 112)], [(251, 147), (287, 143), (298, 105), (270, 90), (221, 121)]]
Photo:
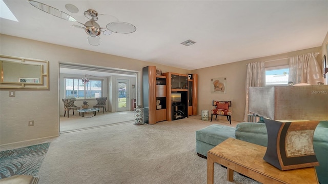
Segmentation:
[(196, 131), (196, 140), (216, 146), (227, 138), (235, 137), (235, 128), (213, 124)]

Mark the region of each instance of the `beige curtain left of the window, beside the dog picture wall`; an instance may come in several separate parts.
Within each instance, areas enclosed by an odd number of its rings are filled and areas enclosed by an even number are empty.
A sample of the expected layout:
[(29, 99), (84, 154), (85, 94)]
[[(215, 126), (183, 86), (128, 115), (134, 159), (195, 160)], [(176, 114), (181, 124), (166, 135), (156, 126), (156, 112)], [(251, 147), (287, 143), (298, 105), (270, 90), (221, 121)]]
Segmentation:
[(249, 87), (261, 87), (265, 86), (265, 65), (264, 62), (255, 62), (247, 64), (247, 76), (246, 76), (246, 106), (244, 121), (247, 121), (247, 115), (249, 114)]

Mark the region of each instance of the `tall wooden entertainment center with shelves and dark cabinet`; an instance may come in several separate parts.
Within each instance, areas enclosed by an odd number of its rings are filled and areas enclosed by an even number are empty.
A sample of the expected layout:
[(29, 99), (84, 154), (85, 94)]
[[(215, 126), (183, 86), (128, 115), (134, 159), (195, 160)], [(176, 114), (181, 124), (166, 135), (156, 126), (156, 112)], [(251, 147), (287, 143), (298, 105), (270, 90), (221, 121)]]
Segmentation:
[(156, 124), (197, 115), (197, 82), (197, 74), (156, 75), (155, 66), (142, 68), (144, 121)]

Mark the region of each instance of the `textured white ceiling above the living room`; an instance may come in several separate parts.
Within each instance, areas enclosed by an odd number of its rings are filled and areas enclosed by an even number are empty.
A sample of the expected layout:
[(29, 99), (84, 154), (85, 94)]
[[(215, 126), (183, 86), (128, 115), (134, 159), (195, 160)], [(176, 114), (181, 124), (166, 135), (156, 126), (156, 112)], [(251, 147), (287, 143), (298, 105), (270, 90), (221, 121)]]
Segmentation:
[[(137, 28), (101, 35), (101, 45), (91, 46), (72, 22), (27, 0), (4, 2), (19, 22), (1, 18), (2, 34), (189, 70), (318, 47), (328, 31), (328, 1), (39, 1), (82, 23), (83, 12), (94, 9), (101, 27), (121, 21)], [(180, 44), (188, 39), (196, 44)]]

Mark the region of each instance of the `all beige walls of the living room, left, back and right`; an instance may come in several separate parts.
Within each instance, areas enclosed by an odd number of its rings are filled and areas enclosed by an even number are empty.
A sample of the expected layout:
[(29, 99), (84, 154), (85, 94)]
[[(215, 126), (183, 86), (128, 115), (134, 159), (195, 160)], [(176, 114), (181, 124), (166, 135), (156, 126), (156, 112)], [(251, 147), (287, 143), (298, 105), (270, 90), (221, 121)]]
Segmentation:
[[(136, 59), (47, 44), (3, 34), (0, 34), (0, 39), (0, 53), (2, 55), (46, 59), (49, 60), (50, 70), (49, 90), (17, 89), (15, 90), (16, 97), (9, 97), (9, 91), (12, 91), (12, 89), (0, 90), (0, 145), (59, 135), (59, 111), (63, 111), (63, 109), (59, 108), (59, 104), (61, 103), (61, 100), (59, 100), (59, 63), (75, 63), (139, 71), (139, 78), (142, 67), (149, 65), (156, 66), (161, 69), (163, 73), (197, 73), (198, 114), (200, 114), (201, 110), (211, 110), (212, 100), (232, 100), (232, 119), (243, 121), (247, 63), (281, 59), (308, 52), (326, 53), (323, 47), (324, 44), (328, 42), (328, 37), (326, 36), (322, 47), (189, 71)], [(319, 55), (317, 59), (321, 61), (321, 55)], [(286, 60), (276, 60), (267, 62), (266, 65), (282, 65), (284, 62), (286, 63)], [(211, 94), (211, 78), (218, 77), (227, 77), (227, 94)], [(108, 81), (114, 81), (114, 79), (109, 78)], [(111, 94), (112, 90), (113, 89), (108, 87), (109, 94)], [(140, 94), (140, 89), (138, 89), (137, 92)], [(110, 106), (109, 109), (111, 108)], [(218, 118), (225, 119), (225, 117)], [(33, 127), (28, 127), (28, 120), (34, 120)]]

